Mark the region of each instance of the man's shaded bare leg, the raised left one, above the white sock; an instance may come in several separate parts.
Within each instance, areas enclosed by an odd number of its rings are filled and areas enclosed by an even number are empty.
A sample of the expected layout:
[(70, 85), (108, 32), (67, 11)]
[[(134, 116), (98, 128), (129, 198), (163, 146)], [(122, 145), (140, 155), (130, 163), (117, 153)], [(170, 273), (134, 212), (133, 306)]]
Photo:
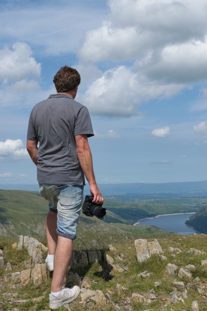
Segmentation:
[(58, 239), (56, 228), (57, 228), (57, 213), (48, 211), (46, 219), (46, 236), (47, 236), (47, 246), (49, 255), (54, 255), (56, 250)]

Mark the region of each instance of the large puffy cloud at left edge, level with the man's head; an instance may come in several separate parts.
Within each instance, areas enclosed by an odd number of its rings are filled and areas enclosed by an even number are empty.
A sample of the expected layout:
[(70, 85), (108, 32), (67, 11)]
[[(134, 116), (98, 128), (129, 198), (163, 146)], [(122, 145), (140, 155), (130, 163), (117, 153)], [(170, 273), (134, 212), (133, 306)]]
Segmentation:
[(16, 42), (12, 50), (4, 47), (0, 50), (0, 80), (20, 81), (28, 77), (39, 78), (41, 64), (32, 57), (32, 50), (24, 42)]

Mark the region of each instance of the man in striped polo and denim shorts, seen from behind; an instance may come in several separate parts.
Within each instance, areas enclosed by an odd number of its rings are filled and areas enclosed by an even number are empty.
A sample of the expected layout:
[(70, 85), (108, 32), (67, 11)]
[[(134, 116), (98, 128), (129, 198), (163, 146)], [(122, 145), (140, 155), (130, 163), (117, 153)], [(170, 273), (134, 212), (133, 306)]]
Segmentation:
[[(57, 94), (36, 104), (29, 118), (27, 150), (37, 165), (39, 193), (49, 202), (46, 220), (47, 267), (54, 271), (50, 308), (75, 299), (78, 286), (63, 288), (83, 203), (84, 174), (93, 202), (103, 203), (97, 187), (88, 137), (93, 136), (88, 109), (74, 100), (80, 84), (76, 69), (61, 67), (53, 82)], [(37, 147), (39, 142), (39, 147)]]

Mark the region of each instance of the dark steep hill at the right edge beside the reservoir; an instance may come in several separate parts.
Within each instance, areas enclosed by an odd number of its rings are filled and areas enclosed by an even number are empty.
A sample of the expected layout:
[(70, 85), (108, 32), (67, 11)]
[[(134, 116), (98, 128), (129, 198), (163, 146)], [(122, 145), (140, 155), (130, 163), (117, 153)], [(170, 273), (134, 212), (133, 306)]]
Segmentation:
[(196, 214), (192, 215), (186, 221), (186, 225), (193, 227), (200, 233), (207, 234), (207, 205), (201, 207)]

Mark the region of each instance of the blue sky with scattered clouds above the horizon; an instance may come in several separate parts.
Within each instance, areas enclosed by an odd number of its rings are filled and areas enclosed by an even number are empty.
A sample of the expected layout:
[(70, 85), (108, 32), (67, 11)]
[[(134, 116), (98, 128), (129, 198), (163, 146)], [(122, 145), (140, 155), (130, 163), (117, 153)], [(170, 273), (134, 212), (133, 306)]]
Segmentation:
[(76, 68), (97, 183), (207, 179), (206, 0), (0, 2), (0, 184), (34, 184), (31, 109)]

